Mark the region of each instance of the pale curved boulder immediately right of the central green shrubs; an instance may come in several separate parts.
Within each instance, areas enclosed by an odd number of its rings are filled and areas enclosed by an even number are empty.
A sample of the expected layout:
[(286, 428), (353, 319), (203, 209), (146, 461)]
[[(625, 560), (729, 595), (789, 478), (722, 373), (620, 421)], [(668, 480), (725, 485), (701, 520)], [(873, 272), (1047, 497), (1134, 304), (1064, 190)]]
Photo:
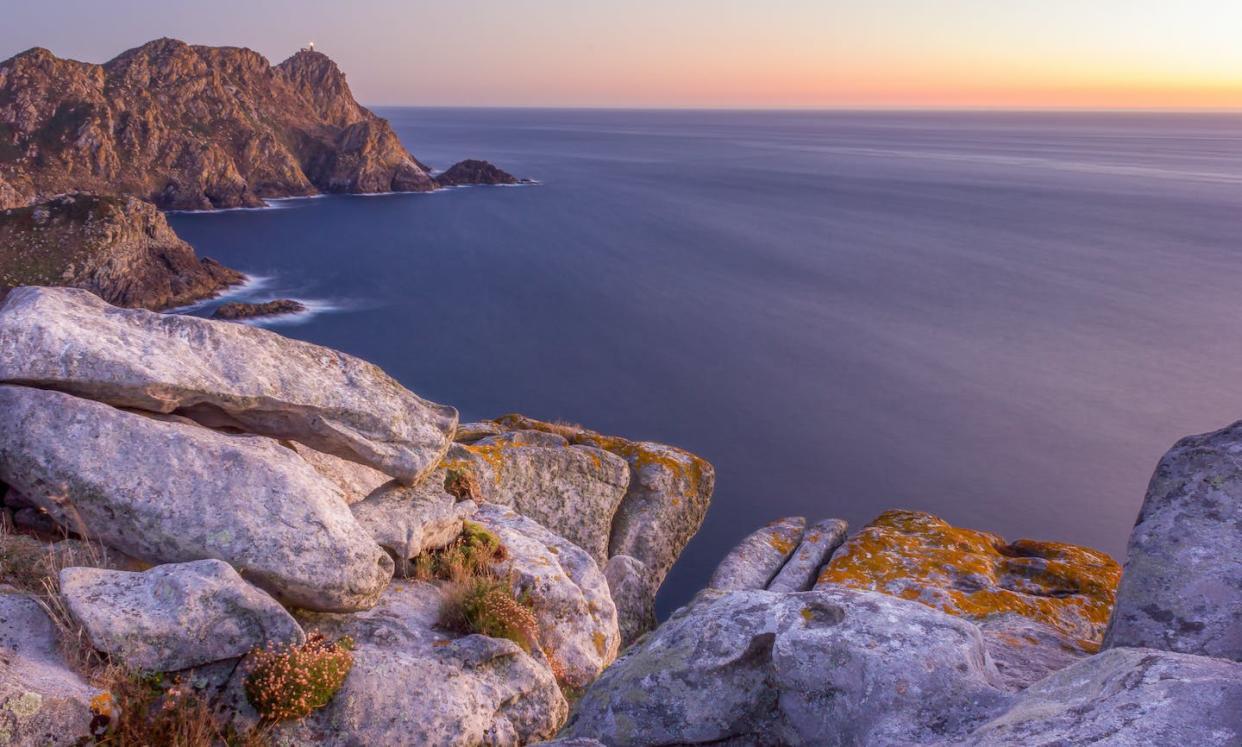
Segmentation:
[(607, 579), (579, 546), (512, 508), (483, 505), (473, 521), (493, 531), (507, 553), (497, 572), (527, 599), (544, 653), (564, 682), (581, 687), (612, 662), (621, 644)]

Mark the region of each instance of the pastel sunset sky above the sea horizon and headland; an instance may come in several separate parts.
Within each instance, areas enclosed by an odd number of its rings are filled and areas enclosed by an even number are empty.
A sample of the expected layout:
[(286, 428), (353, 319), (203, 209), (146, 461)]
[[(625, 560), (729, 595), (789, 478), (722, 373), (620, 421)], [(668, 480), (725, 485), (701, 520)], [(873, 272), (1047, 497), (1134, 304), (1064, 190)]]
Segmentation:
[(0, 0), (0, 60), (307, 41), (366, 104), (1242, 108), (1242, 0)]

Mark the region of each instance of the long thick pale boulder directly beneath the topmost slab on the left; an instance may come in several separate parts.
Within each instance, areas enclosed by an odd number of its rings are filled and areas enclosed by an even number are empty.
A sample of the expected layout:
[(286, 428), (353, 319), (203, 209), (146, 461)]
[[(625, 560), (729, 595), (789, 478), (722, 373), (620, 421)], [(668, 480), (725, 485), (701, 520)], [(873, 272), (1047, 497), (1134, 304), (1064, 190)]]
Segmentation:
[(298, 607), (369, 607), (392, 574), (335, 486), (261, 436), (0, 385), (0, 480), (134, 558), (219, 558)]

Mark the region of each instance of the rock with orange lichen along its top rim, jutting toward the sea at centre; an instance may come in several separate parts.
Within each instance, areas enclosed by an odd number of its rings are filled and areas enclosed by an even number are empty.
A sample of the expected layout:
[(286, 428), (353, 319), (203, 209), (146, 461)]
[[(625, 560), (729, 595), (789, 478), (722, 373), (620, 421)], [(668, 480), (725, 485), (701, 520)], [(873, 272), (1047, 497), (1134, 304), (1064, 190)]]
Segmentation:
[(626, 460), (630, 483), (612, 517), (607, 554), (630, 556), (646, 568), (651, 595), (637, 616), (622, 623), (628, 630), (645, 630), (646, 621), (655, 619), (656, 592), (703, 525), (715, 487), (715, 470), (707, 460), (682, 449), (606, 436), (578, 425), (515, 414), (493, 423), (507, 430), (556, 434), (570, 444), (602, 449)]

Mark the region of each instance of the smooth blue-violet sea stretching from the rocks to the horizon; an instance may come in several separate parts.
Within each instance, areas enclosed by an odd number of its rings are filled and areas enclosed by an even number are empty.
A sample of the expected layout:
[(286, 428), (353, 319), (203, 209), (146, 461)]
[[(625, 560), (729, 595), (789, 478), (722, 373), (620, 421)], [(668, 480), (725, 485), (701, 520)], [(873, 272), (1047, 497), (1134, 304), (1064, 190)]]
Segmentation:
[(782, 515), (1120, 557), (1164, 450), (1242, 418), (1242, 116), (383, 114), (542, 185), (173, 224), (463, 420), (712, 460), (666, 613)]

